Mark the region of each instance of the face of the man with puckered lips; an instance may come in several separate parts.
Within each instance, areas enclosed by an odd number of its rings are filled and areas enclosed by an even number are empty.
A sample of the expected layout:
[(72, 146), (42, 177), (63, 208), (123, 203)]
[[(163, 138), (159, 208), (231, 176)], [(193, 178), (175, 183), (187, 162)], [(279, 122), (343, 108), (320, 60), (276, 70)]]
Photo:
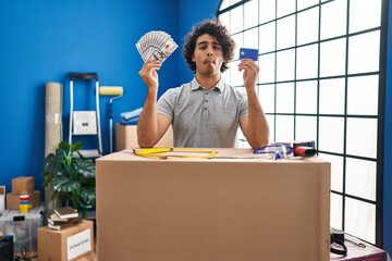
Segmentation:
[(196, 63), (196, 74), (220, 75), (223, 63), (223, 51), (217, 38), (208, 34), (196, 39), (196, 47), (192, 60)]

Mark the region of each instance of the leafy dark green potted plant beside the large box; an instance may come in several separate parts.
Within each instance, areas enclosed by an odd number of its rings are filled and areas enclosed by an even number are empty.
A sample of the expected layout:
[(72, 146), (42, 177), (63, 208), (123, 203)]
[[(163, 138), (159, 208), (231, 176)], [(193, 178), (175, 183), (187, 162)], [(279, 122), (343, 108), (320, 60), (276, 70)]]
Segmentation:
[(81, 154), (82, 142), (60, 142), (56, 153), (49, 153), (44, 161), (44, 186), (52, 186), (50, 200), (58, 198), (63, 206), (70, 202), (82, 211), (83, 217), (96, 202), (95, 162)]

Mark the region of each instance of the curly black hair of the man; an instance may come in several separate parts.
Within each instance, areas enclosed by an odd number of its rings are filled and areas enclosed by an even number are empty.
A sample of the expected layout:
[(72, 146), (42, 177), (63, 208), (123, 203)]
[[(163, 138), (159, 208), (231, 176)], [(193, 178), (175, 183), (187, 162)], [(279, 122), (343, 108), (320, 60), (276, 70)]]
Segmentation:
[(234, 57), (235, 42), (231, 38), (228, 28), (217, 18), (206, 20), (194, 26), (191, 33), (185, 36), (183, 55), (188, 67), (195, 73), (196, 63), (192, 61), (196, 48), (196, 40), (200, 35), (208, 34), (217, 38), (223, 51), (223, 63), (220, 71), (223, 73), (229, 69), (228, 63)]

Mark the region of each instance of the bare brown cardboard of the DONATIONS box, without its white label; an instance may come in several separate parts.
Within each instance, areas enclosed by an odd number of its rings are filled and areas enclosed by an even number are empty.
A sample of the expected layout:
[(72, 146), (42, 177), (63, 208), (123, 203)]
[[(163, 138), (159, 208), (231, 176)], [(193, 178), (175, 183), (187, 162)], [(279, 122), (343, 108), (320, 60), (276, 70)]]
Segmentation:
[[(93, 221), (84, 220), (82, 223), (62, 231), (52, 231), (47, 226), (39, 227), (37, 229), (39, 261), (69, 260), (68, 249), (66, 249), (66, 238), (88, 228), (91, 232), (90, 235), (91, 250), (94, 250), (95, 245), (94, 245)], [(86, 252), (83, 256), (90, 252), (91, 251)], [(73, 260), (77, 260), (79, 257)]]

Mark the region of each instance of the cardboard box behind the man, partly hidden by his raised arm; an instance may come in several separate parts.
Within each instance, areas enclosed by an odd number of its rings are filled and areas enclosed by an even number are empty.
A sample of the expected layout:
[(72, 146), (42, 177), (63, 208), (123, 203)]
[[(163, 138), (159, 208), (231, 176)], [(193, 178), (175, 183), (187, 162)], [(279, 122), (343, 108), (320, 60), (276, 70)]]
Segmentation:
[[(138, 147), (137, 126), (115, 124), (115, 151)], [(168, 128), (163, 137), (155, 147), (173, 147), (172, 126)]]

